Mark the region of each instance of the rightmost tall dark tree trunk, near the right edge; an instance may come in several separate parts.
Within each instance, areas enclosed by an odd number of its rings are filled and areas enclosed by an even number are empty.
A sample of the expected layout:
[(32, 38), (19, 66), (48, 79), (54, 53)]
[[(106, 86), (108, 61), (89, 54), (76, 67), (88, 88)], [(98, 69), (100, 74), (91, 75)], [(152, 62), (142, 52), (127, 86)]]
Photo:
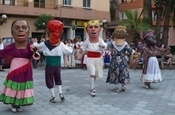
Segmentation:
[(162, 44), (165, 46), (168, 45), (168, 33), (169, 33), (169, 22), (170, 22), (170, 14), (171, 14), (171, 0), (166, 1), (165, 5), (165, 21), (162, 33)]

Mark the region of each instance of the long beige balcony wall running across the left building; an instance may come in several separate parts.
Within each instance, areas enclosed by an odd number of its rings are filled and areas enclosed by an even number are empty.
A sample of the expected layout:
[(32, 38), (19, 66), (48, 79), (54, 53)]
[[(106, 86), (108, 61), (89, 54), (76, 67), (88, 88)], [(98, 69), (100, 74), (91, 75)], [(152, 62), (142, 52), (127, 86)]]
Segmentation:
[[(1, 1), (1, 0), (0, 0)], [(8, 0), (6, 0), (8, 1)], [(13, 1), (13, 2), (12, 2)], [(104, 11), (89, 10), (76, 6), (64, 6), (57, 0), (45, 2), (28, 2), (29, 0), (9, 0), (0, 4), (0, 14), (37, 17), (40, 14), (49, 14), (57, 18), (71, 19), (109, 19), (109, 13)], [(88, 15), (87, 15), (88, 14)]]

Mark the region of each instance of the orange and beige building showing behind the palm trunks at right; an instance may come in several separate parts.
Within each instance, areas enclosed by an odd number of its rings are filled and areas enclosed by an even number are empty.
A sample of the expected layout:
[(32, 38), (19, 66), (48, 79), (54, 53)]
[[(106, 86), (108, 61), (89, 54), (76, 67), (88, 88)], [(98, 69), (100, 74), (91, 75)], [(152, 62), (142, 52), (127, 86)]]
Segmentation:
[[(124, 14), (124, 11), (126, 9), (131, 9), (133, 11), (137, 11), (138, 14), (141, 13), (143, 6), (144, 6), (144, 0), (117, 0), (119, 3), (119, 18), (120, 19), (125, 19), (126, 16)], [(152, 3), (152, 8), (154, 9), (154, 3)], [(154, 10), (152, 11), (152, 24), (153, 26), (156, 25), (156, 17), (154, 16)], [(163, 20), (162, 23), (163, 25)], [(161, 28), (163, 31), (163, 28)], [(169, 39), (168, 39), (168, 45), (169, 46), (175, 46), (175, 29), (173, 28), (173, 23), (170, 21), (169, 23)]]

